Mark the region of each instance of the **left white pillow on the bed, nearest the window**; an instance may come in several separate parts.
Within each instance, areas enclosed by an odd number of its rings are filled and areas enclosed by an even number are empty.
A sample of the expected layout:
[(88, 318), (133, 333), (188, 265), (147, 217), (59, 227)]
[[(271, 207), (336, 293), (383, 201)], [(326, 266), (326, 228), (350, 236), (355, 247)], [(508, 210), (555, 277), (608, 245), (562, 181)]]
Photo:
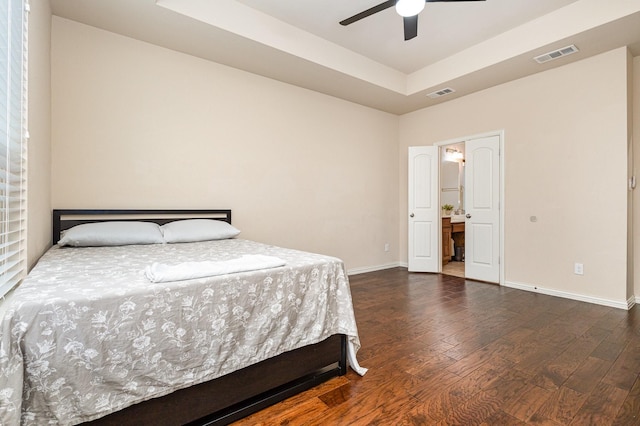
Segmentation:
[(67, 229), (59, 246), (123, 246), (128, 244), (162, 244), (160, 225), (151, 222), (96, 222)]

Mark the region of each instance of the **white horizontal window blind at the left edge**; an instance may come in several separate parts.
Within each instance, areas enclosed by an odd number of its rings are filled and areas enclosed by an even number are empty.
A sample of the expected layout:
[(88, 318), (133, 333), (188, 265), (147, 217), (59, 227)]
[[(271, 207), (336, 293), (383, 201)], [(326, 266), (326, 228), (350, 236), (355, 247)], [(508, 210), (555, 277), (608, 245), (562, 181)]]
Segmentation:
[(0, 1), (0, 297), (27, 269), (27, 12)]

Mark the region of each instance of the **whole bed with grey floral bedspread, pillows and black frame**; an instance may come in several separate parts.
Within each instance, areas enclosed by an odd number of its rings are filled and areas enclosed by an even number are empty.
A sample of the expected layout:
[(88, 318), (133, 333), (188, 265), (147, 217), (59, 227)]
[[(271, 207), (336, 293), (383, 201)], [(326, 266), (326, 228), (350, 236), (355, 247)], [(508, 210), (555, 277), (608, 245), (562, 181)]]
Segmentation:
[[(342, 261), (193, 239), (210, 219), (235, 229), (230, 210), (54, 210), (54, 242), (85, 224), (135, 241), (54, 245), (2, 303), (0, 424), (228, 424), (364, 374)], [(142, 224), (163, 241), (136, 244)]]

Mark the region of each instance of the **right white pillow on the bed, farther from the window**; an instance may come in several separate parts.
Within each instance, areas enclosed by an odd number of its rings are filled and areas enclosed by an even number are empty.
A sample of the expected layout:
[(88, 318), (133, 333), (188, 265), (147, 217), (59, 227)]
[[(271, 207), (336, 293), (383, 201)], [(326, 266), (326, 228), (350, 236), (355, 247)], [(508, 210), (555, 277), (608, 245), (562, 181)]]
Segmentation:
[(194, 241), (224, 240), (236, 237), (240, 230), (222, 220), (187, 219), (176, 220), (161, 226), (167, 243), (190, 243)]

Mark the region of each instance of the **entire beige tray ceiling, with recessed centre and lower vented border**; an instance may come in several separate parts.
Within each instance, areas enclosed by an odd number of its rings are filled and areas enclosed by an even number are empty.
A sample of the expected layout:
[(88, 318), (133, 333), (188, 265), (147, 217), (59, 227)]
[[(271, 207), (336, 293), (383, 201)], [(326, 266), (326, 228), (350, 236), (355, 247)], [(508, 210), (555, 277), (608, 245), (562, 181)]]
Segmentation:
[[(381, 0), (51, 0), (54, 15), (403, 114), (628, 46), (640, 55), (640, 1), (427, 3), (404, 41)], [(575, 44), (543, 65), (534, 56)], [(450, 87), (453, 94), (426, 94)]]

